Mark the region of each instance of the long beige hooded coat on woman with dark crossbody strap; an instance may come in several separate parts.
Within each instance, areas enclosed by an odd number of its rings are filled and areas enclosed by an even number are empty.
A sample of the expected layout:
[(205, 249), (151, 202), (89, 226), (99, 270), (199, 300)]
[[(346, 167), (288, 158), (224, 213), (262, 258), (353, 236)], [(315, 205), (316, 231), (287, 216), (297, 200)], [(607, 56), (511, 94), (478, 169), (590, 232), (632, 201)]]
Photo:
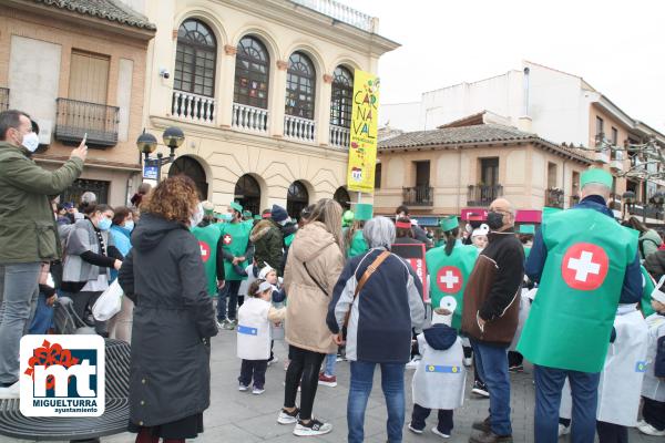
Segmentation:
[[(304, 264), (325, 293), (309, 277)], [(314, 222), (298, 229), (284, 271), (288, 297), (285, 328), (289, 344), (320, 353), (336, 352), (326, 315), (342, 268), (341, 250), (324, 224)]]

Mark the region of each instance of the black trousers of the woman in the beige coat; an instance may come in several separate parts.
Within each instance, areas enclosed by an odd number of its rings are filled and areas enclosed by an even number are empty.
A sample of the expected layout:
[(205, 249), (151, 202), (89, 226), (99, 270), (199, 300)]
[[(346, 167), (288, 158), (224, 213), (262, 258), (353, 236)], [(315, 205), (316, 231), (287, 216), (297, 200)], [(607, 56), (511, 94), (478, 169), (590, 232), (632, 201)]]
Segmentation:
[(288, 354), (291, 361), (286, 371), (284, 408), (296, 405), (298, 383), (300, 383), (300, 420), (310, 420), (314, 398), (318, 387), (318, 374), (326, 354), (307, 351), (294, 346), (288, 347)]

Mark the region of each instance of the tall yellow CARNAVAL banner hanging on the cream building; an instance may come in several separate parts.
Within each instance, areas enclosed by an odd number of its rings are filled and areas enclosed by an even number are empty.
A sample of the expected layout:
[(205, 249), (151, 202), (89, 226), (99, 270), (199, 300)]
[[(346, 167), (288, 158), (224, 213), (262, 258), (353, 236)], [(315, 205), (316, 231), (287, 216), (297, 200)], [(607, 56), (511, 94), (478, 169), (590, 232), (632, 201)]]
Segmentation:
[(376, 75), (356, 70), (347, 173), (349, 190), (374, 192), (377, 166), (379, 85), (380, 81)]

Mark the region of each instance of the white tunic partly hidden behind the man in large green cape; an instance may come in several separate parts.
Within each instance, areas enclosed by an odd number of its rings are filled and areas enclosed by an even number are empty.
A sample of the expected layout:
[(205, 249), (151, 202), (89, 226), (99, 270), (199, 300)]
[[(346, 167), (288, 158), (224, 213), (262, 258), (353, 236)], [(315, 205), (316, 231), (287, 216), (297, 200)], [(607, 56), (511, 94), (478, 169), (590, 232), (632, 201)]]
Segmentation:
[[(605, 365), (598, 383), (596, 419), (622, 426), (635, 426), (640, 410), (644, 361), (646, 358), (647, 327), (635, 306), (622, 306), (614, 319), (616, 338), (607, 349)], [(561, 398), (561, 418), (572, 415), (569, 380)]]

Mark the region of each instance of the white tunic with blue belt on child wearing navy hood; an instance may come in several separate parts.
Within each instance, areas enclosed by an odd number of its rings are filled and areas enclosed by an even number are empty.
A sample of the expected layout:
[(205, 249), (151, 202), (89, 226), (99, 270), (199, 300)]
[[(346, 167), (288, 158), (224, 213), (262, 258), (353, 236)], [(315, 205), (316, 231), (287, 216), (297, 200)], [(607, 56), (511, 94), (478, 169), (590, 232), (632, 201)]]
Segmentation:
[(467, 380), (462, 340), (458, 337), (449, 349), (439, 351), (431, 348), (421, 333), (418, 336), (418, 349), (422, 359), (411, 384), (413, 403), (429, 409), (461, 406)]

